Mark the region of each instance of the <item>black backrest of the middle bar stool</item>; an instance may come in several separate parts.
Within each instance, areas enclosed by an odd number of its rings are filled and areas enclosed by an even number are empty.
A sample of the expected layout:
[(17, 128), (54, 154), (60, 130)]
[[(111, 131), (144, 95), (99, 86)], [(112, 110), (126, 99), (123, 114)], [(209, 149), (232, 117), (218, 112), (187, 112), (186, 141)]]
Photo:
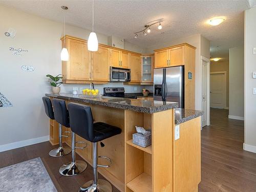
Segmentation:
[(52, 100), (55, 120), (63, 126), (70, 127), (69, 111), (67, 110), (65, 100), (56, 99)]

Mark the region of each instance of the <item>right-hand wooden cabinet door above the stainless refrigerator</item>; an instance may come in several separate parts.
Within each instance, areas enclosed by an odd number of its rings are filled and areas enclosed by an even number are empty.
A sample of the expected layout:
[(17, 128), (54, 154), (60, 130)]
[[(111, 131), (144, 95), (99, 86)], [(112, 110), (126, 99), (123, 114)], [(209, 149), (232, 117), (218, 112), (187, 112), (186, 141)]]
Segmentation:
[(169, 63), (170, 66), (184, 66), (185, 64), (185, 46), (180, 46), (176, 48), (169, 49), (170, 50), (170, 58)]

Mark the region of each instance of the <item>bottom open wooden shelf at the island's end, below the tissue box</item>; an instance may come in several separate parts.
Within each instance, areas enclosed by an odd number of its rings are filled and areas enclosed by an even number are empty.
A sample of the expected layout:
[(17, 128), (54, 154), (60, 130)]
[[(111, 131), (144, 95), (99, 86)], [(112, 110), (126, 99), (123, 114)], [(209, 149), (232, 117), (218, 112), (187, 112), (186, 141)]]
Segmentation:
[(126, 186), (134, 192), (150, 192), (152, 191), (152, 177), (150, 175), (147, 175), (146, 173), (143, 173), (127, 183)]

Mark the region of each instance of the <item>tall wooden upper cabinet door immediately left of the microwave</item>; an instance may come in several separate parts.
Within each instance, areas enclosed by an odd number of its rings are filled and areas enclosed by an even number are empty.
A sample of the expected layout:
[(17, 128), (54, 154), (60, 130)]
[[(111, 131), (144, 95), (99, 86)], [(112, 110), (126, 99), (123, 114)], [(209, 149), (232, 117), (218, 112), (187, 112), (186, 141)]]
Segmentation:
[(109, 48), (99, 46), (98, 51), (92, 52), (91, 63), (91, 80), (109, 81)]

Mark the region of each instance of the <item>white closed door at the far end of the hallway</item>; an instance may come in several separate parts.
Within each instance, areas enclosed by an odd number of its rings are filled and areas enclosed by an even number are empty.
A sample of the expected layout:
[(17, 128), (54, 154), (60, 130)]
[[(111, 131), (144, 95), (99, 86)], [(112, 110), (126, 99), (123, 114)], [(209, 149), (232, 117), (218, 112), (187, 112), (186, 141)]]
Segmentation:
[(210, 73), (210, 107), (226, 108), (226, 72)]

